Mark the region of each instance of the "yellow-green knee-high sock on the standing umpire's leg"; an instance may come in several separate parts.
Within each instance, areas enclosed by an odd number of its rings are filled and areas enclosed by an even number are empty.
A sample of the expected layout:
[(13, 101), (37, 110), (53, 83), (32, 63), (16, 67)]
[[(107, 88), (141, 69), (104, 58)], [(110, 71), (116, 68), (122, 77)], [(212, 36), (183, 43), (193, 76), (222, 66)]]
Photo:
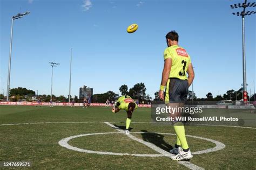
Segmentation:
[[(185, 128), (184, 128), (183, 123), (177, 122), (173, 125), (173, 127), (177, 134), (177, 138), (179, 138), (181, 147), (186, 150), (188, 148), (188, 145), (187, 145), (187, 140), (186, 140), (186, 136), (185, 136)], [(178, 143), (178, 140), (177, 140), (177, 143)]]

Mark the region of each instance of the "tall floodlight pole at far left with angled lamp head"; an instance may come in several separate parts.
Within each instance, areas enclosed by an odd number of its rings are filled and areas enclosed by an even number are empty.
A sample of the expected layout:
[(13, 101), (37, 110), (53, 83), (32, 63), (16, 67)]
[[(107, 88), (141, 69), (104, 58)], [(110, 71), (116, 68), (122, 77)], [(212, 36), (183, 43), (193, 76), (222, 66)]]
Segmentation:
[(14, 28), (14, 20), (22, 18), (25, 15), (28, 15), (30, 12), (18, 13), (16, 16), (11, 17), (11, 41), (10, 41), (10, 51), (9, 51), (9, 65), (8, 65), (8, 80), (7, 80), (7, 91), (6, 91), (6, 101), (9, 101), (10, 93), (10, 75), (11, 75), (11, 48), (12, 48), (12, 32)]

